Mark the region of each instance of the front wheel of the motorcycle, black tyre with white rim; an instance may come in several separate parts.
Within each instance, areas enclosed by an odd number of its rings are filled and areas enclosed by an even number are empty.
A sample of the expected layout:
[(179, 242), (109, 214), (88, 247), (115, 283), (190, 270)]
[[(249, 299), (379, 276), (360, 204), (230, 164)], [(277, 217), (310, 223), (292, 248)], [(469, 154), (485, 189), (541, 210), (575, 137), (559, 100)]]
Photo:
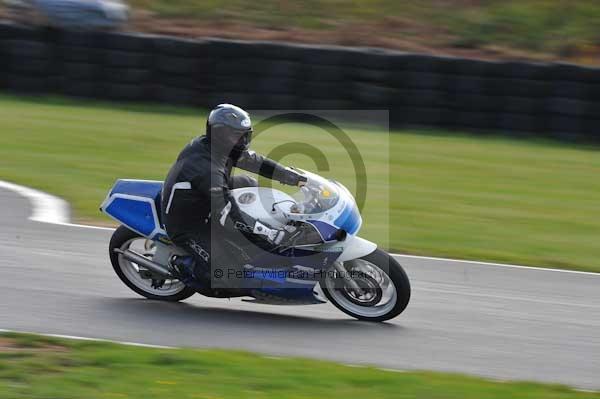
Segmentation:
[(410, 300), (410, 282), (404, 269), (380, 249), (344, 262), (343, 271), (329, 270), (321, 280), (321, 288), (342, 312), (366, 321), (392, 319), (406, 309)]

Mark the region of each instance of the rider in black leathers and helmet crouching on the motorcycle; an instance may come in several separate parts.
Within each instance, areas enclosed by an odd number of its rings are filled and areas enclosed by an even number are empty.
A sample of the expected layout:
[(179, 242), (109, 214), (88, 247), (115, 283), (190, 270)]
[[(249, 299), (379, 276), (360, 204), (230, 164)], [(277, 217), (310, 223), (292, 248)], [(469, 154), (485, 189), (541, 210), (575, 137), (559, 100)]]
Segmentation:
[[(162, 221), (171, 240), (193, 256), (178, 257), (172, 264), (180, 279), (194, 288), (206, 287), (211, 244), (218, 248), (221, 235), (241, 231), (274, 248), (298, 234), (261, 223), (236, 204), (230, 190), (256, 187), (258, 182), (248, 175), (232, 176), (234, 166), (282, 184), (299, 186), (306, 182), (294, 170), (248, 150), (251, 140), (248, 113), (220, 104), (208, 116), (206, 135), (185, 146), (165, 180)], [(211, 231), (218, 236), (211, 237)]]

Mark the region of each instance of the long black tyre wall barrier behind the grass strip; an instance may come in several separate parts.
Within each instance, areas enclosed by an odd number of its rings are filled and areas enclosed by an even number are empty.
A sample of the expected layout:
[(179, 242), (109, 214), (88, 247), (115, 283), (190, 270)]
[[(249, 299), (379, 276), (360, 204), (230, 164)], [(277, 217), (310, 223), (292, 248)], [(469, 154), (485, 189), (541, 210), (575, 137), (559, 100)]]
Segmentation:
[(0, 22), (0, 88), (249, 109), (387, 109), (423, 125), (600, 140), (600, 69)]

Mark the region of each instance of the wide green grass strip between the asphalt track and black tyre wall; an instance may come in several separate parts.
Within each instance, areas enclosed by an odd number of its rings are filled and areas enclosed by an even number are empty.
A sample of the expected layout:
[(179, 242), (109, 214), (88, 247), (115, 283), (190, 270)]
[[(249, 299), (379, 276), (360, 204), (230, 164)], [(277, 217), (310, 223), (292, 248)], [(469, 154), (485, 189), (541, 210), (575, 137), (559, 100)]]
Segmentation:
[[(64, 197), (84, 222), (117, 178), (162, 180), (203, 130), (205, 114), (150, 105), (0, 96), (0, 179)], [(361, 235), (394, 250), (600, 272), (600, 152), (566, 143), (437, 131), (346, 129), (364, 158)], [(325, 152), (350, 186), (344, 148), (320, 129), (286, 124), (253, 147), (288, 142)], [(389, 162), (388, 162), (389, 161)], [(314, 170), (304, 155), (282, 162)]]

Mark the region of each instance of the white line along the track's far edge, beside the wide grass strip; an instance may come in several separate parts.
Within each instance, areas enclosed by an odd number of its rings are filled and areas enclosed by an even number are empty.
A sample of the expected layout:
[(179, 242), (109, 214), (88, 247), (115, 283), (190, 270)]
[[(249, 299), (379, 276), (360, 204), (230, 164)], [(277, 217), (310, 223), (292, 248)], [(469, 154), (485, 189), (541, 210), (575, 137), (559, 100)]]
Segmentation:
[[(57, 224), (60, 226), (78, 227), (78, 228), (85, 228), (85, 229), (114, 230), (114, 228), (112, 228), (112, 227), (89, 226), (89, 225), (84, 225), (84, 224), (69, 223), (69, 204), (65, 200), (55, 197), (53, 195), (46, 194), (42, 191), (34, 190), (29, 187), (20, 186), (18, 184), (5, 182), (2, 180), (0, 180), (0, 188), (5, 188), (7, 190), (11, 190), (19, 195), (22, 195), (23, 197), (27, 198), (31, 202), (31, 206), (33, 207), (33, 213), (31, 214), (31, 216), (29, 216), (30, 220), (33, 220), (36, 222)], [(476, 265), (476, 266), (508, 267), (508, 268), (513, 268), (513, 269), (522, 269), (522, 270), (584, 274), (584, 275), (591, 275), (591, 276), (596, 276), (596, 277), (600, 276), (600, 273), (581, 272), (581, 271), (576, 271), (576, 270), (548, 269), (548, 268), (543, 268), (543, 267), (511, 265), (511, 264), (505, 264), (505, 263), (479, 262), (479, 261), (474, 261), (474, 260), (436, 258), (436, 257), (431, 257), (431, 256), (416, 256), (416, 255), (405, 255), (405, 254), (391, 254), (391, 255), (395, 256), (395, 257), (400, 257), (400, 258), (412, 258), (412, 259), (422, 259), (422, 260), (464, 263), (464, 264), (470, 264), (470, 265)]]

